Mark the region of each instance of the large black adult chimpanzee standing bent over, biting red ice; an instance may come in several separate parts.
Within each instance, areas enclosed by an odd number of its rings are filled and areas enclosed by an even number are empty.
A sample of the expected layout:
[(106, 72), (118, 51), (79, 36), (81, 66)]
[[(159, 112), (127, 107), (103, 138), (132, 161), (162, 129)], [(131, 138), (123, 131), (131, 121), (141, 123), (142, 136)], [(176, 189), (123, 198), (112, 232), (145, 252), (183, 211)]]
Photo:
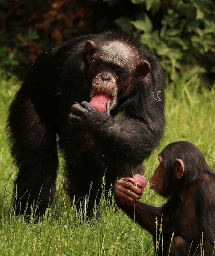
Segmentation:
[[(87, 103), (95, 94), (98, 109), (105, 111), (101, 105), (107, 104), (105, 113)], [(56, 134), (70, 198), (83, 199), (93, 183), (90, 215), (102, 176), (109, 188), (117, 177), (139, 172), (164, 126), (162, 68), (131, 35), (87, 35), (44, 52), (9, 109), (9, 141), (18, 166), (16, 213), (23, 213), (28, 202), (30, 214), (33, 200), (39, 202), (40, 215), (51, 204), (58, 169)]]

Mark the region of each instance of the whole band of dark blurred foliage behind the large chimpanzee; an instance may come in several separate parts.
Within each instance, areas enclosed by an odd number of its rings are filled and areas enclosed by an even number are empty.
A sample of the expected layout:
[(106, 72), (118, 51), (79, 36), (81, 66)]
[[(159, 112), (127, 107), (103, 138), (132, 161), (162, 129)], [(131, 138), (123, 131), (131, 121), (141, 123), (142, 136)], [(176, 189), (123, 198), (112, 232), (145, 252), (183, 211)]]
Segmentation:
[(44, 50), (87, 33), (117, 29), (134, 33), (159, 56), (177, 86), (200, 74), (215, 78), (213, 0), (1, 0), (0, 68), (24, 74)]

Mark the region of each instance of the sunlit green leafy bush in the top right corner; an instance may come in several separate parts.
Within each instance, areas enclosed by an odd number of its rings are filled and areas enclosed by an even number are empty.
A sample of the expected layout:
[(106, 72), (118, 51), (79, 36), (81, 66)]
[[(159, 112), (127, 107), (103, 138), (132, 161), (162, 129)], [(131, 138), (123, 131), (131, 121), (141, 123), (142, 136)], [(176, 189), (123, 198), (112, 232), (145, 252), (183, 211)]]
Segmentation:
[[(168, 77), (177, 84), (201, 74), (212, 84), (215, 75), (215, 16), (212, 0), (131, 0), (140, 8), (134, 20), (119, 17), (121, 29), (137, 34), (143, 45), (160, 56)], [(131, 27), (131, 24), (133, 25)]]

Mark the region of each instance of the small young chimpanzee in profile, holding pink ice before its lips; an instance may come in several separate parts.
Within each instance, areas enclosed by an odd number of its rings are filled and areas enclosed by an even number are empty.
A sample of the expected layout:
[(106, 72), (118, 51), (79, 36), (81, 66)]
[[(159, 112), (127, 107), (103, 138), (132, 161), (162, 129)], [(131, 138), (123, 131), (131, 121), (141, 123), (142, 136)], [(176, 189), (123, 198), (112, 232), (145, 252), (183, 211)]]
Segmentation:
[(169, 248), (171, 256), (188, 255), (189, 251), (189, 255), (194, 255), (195, 251), (197, 255), (202, 232), (204, 255), (212, 255), (215, 241), (214, 171), (206, 164), (202, 153), (187, 141), (167, 145), (158, 160), (160, 165), (148, 179), (152, 183), (150, 189), (164, 197), (171, 195), (168, 202), (162, 207), (136, 203), (135, 199), (140, 199), (142, 194), (138, 187), (142, 185), (132, 178), (121, 178), (115, 184), (117, 204), (131, 218), (135, 214), (135, 220), (153, 235), (155, 248), (155, 216), (159, 220), (158, 226), (162, 217), (163, 254), (160, 241), (158, 255), (168, 255)]

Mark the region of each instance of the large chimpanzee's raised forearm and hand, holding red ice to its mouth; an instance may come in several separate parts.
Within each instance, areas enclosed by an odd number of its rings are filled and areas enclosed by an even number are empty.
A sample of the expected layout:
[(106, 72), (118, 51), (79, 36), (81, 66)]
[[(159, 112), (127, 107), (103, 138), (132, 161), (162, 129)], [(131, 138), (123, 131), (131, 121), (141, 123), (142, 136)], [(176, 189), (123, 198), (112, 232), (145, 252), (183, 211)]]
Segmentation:
[(142, 162), (149, 156), (160, 138), (143, 121), (111, 117), (107, 112), (102, 113), (85, 101), (72, 106), (69, 119), (82, 122), (84, 128), (93, 132), (109, 152), (131, 158), (134, 162)]

